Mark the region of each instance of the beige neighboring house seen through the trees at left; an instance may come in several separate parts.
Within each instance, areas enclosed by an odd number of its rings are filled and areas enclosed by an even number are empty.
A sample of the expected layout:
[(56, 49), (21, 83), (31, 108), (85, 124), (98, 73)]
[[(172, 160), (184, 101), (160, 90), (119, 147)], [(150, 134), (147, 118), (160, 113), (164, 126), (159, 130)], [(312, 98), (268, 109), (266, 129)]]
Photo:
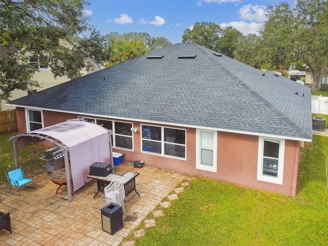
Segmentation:
[[(70, 40), (62, 40), (60, 42), (60, 44), (67, 48), (70, 48), (70, 49), (72, 49), (74, 47), (74, 44)], [(4, 49), (4, 47), (0, 47), (0, 49)], [(1, 53), (1, 51), (0, 51), (0, 53)], [(42, 90), (48, 89), (50, 87), (65, 83), (68, 80), (70, 80), (70, 78), (68, 78), (67, 76), (54, 78), (53, 74), (51, 73), (51, 68), (49, 67), (48, 63), (42, 61), (42, 57), (36, 57), (33, 54), (27, 54), (26, 62), (29, 63), (31, 66), (38, 67), (39, 71), (34, 73), (32, 80), (38, 81), (38, 83), (40, 84), (40, 87), (34, 87), (34, 88), (32, 88), (32, 91), (14, 90), (12, 92), (12, 96), (10, 97), (10, 101), (20, 98), (20, 97), (23, 97), (23, 96), (26, 96), (26, 95), (29, 95), (31, 93), (35, 93), (37, 91), (42, 91)], [(98, 71), (99, 69), (100, 68), (95, 65), (93, 71)], [(88, 72), (86, 70), (81, 70), (82, 75), (86, 75), (89, 73), (90, 72)], [(11, 107), (11, 106), (8, 106), (5, 104), (6, 104), (6, 101), (0, 100), (0, 111), (14, 109), (14, 107)]]

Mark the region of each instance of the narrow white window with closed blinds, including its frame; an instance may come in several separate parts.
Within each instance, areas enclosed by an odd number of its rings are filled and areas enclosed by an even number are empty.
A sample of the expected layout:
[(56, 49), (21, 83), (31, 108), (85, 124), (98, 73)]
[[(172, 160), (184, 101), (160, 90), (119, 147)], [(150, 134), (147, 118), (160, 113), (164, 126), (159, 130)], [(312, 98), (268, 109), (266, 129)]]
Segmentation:
[(196, 130), (196, 168), (216, 172), (217, 132)]

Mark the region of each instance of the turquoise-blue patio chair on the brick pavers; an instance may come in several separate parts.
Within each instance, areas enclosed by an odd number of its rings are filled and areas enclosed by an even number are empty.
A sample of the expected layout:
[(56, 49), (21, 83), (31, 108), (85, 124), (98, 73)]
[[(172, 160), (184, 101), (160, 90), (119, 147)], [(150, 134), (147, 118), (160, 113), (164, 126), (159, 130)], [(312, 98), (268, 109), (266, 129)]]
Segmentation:
[[(14, 167), (9, 169), (8, 171), (5, 171), (10, 189), (7, 192), (13, 194), (13, 195), (20, 195), (20, 187), (25, 186), (27, 188), (34, 188), (34, 181), (33, 181), (33, 175), (30, 174), (29, 176), (25, 176), (22, 168), (20, 167)], [(33, 186), (26, 186), (28, 183), (32, 183)], [(11, 187), (17, 187), (18, 188), (18, 194), (11, 192)]]

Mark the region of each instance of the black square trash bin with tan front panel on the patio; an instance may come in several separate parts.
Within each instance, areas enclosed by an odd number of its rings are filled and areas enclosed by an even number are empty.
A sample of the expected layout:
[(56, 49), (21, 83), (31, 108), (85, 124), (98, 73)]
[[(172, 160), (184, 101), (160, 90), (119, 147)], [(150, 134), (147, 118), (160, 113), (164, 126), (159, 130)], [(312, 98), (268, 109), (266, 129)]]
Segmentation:
[(123, 227), (122, 207), (111, 202), (100, 210), (103, 230), (114, 234)]

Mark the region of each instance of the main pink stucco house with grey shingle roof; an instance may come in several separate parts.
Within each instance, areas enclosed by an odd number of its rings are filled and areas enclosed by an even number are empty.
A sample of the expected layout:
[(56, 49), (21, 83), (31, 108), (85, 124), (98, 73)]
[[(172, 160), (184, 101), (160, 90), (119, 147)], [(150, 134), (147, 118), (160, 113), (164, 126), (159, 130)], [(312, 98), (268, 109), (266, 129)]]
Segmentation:
[[(83, 118), (124, 161), (295, 197), (311, 90), (196, 44), (176, 44), (11, 102), (18, 131)], [(90, 163), (91, 165), (92, 163)]]

